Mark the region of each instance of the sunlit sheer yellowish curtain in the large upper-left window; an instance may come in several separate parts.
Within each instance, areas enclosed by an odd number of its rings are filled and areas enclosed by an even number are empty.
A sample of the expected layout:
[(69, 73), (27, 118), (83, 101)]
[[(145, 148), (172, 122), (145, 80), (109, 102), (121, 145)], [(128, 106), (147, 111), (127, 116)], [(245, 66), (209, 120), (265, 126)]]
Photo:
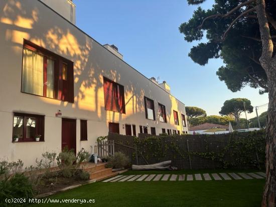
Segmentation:
[(43, 56), (24, 48), (22, 91), (43, 96)]

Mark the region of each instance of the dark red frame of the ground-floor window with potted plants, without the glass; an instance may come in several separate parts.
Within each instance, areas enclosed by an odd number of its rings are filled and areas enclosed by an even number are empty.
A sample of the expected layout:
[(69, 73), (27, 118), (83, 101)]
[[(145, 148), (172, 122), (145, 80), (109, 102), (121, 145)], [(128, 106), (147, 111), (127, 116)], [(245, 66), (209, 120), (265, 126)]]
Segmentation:
[[(14, 116), (21, 116), (23, 117), (23, 136), (18, 139), (18, 142), (34, 142), (36, 141), (35, 137), (27, 137), (26, 131), (27, 131), (27, 118), (35, 118), (36, 119), (36, 135), (41, 135), (39, 141), (44, 141), (44, 127), (45, 127), (45, 116), (44, 115), (37, 115), (37, 114), (27, 114), (27, 113), (14, 113)], [(14, 128), (14, 119), (13, 119), (13, 128)], [(13, 137), (16, 134), (13, 130)], [(13, 138), (12, 137), (12, 138)], [(14, 141), (12, 139), (12, 141)]]

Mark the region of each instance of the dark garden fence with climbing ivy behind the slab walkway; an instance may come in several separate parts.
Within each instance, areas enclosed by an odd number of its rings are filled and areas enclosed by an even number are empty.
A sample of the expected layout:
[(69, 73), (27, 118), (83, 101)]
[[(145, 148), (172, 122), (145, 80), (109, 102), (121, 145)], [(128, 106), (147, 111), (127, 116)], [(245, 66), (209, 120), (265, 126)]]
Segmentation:
[(172, 160), (172, 165), (179, 169), (263, 168), (264, 135), (263, 130), (212, 135), (139, 134), (139, 137), (109, 133), (108, 140), (114, 140), (115, 152), (125, 153), (132, 164), (137, 164), (137, 160), (138, 164)]

